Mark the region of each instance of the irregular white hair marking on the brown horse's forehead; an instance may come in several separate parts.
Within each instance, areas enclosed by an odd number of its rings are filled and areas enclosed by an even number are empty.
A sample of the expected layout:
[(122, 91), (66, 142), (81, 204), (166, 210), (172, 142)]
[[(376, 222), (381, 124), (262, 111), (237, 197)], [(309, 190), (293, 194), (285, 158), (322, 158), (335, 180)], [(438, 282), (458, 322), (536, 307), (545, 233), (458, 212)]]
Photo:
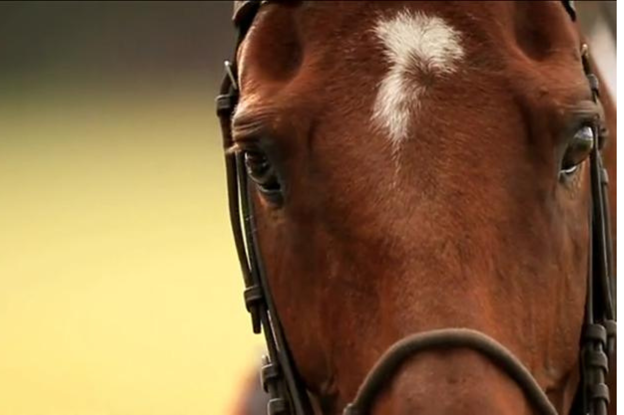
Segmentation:
[(418, 108), (427, 88), (414, 74), (450, 74), (464, 50), (459, 32), (441, 18), (421, 12), (401, 11), (391, 19), (380, 19), (374, 32), (391, 66), (379, 84), (373, 120), (388, 132), (396, 156), (407, 138), (412, 108)]

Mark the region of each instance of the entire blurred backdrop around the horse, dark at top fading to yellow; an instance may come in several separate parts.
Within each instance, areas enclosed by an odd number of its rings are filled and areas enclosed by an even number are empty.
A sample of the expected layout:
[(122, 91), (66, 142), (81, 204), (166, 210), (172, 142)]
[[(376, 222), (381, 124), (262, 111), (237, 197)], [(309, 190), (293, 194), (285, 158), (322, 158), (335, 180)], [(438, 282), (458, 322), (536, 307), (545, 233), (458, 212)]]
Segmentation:
[(262, 345), (213, 110), (231, 7), (0, 3), (0, 415), (232, 413)]

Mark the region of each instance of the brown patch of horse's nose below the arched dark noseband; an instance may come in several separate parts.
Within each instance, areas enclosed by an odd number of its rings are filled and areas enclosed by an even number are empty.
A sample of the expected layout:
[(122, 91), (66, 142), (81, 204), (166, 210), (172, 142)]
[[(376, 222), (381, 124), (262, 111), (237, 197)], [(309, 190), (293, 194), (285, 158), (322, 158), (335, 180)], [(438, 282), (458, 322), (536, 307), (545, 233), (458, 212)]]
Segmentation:
[(407, 360), (373, 415), (532, 414), (522, 389), (481, 353), (426, 351)]

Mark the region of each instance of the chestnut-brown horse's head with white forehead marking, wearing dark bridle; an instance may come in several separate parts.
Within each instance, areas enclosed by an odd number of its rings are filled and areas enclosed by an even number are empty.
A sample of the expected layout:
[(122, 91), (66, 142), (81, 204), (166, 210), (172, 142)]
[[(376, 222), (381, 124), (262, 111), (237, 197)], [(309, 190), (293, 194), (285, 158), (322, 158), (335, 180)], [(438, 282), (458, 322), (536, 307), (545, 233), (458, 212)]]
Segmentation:
[(233, 21), (217, 113), (268, 412), (615, 414), (616, 109), (573, 2)]

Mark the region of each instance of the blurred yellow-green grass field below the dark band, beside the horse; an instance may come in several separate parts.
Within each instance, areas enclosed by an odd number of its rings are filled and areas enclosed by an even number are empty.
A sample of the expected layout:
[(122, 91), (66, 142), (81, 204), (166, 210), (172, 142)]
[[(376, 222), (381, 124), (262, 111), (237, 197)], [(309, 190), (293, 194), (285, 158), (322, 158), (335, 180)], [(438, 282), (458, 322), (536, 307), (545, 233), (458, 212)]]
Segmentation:
[(231, 408), (261, 339), (192, 84), (0, 93), (0, 415)]

